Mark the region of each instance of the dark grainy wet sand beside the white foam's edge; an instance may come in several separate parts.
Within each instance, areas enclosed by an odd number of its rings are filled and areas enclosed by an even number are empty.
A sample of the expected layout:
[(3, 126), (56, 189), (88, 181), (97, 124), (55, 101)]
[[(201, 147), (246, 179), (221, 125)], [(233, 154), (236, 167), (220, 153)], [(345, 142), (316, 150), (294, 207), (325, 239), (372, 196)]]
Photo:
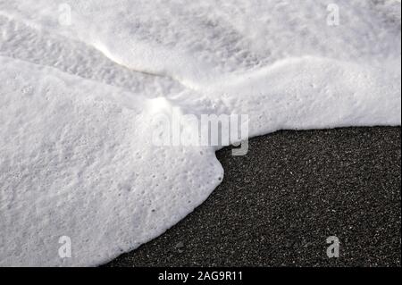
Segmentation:
[(106, 265), (400, 266), (400, 144), (400, 128), (350, 128), (253, 138), (243, 157), (222, 149), (212, 196)]

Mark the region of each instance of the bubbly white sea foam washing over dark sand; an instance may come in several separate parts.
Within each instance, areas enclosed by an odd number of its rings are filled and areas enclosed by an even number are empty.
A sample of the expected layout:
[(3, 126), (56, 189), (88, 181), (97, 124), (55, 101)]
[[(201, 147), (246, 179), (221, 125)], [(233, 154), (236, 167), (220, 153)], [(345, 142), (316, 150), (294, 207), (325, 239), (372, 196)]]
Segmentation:
[(0, 36), (0, 265), (101, 264), (200, 205), (216, 147), (155, 146), (155, 113), (401, 121), (396, 1), (0, 0)]

